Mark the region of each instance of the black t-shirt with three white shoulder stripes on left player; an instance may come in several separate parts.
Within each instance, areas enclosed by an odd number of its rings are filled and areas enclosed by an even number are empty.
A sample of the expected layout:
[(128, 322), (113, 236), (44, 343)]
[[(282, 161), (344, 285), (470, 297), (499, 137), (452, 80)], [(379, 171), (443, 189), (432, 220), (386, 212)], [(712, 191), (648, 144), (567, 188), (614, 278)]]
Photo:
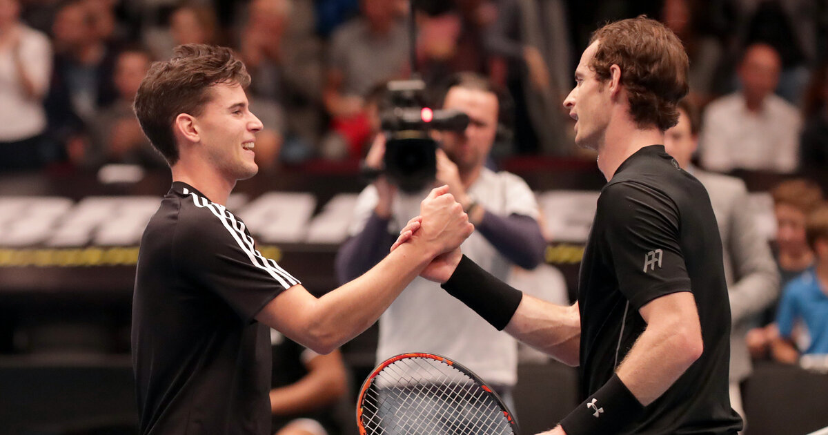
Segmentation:
[(174, 182), (132, 298), (140, 433), (269, 433), (270, 333), (254, 317), (297, 283), (223, 205)]

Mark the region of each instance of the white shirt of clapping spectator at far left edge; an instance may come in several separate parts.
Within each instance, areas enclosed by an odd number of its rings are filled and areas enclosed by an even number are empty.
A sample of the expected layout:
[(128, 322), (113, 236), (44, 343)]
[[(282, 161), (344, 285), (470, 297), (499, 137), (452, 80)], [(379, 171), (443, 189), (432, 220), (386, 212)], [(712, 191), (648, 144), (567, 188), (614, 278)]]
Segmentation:
[[(22, 24), (20, 56), (26, 75), (36, 93), (46, 95), (51, 79), (51, 42), (41, 33)], [(46, 128), (46, 111), (41, 99), (31, 99), (23, 89), (12, 60), (11, 47), (0, 51), (0, 142), (14, 142), (36, 136)]]

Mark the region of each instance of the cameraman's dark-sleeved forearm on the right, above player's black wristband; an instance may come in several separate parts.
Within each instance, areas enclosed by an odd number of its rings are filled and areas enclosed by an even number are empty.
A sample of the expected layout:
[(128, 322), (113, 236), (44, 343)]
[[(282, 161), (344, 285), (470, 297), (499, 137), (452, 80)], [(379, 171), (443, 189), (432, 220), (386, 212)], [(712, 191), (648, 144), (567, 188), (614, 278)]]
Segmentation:
[(546, 240), (537, 220), (529, 216), (503, 217), (486, 211), (476, 229), (500, 254), (522, 268), (536, 268), (543, 261)]

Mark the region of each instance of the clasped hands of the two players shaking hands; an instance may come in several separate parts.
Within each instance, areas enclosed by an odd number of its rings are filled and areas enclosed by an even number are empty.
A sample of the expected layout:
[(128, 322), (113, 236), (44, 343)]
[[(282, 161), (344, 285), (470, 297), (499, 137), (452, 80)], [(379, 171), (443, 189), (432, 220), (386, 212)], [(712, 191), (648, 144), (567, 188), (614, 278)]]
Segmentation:
[(474, 232), (469, 215), (463, 206), (449, 193), (449, 186), (431, 190), (420, 204), (420, 215), (409, 220), (400, 230), (395, 250), (403, 244), (416, 244), (431, 258), (420, 272), (422, 278), (445, 283), (460, 263), (460, 244)]

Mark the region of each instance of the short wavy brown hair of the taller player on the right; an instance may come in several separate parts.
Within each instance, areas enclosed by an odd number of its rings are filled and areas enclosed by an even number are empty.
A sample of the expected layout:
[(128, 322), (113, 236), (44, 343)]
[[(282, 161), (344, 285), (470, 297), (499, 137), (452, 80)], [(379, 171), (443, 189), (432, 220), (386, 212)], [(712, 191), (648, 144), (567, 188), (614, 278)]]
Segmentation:
[(599, 41), (590, 69), (601, 81), (619, 65), (621, 85), (627, 89), (629, 112), (639, 128), (659, 130), (678, 123), (676, 104), (690, 89), (689, 61), (681, 41), (662, 23), (641, 16), (609, 23), (592, 34)]

